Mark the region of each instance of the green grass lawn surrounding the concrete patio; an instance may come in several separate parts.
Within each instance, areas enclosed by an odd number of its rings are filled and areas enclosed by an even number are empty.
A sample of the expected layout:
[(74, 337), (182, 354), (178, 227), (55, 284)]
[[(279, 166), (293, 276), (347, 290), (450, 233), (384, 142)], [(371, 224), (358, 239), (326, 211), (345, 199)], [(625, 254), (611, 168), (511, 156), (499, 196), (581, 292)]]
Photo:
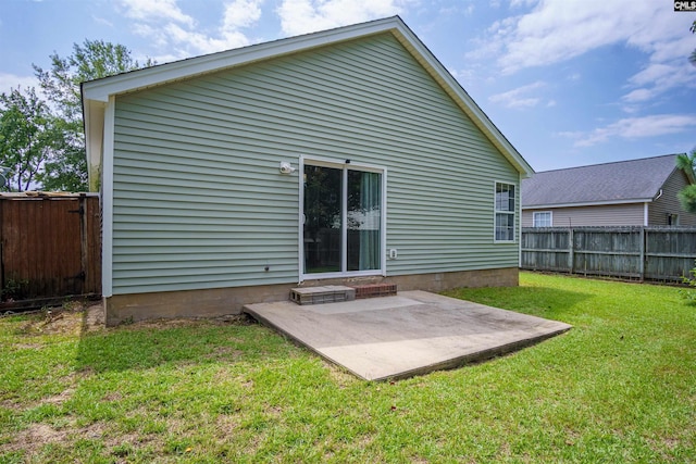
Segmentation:
[(366, 383), (256, 324), (0, 318), (0, 463), (696, 462), (696, 306), (522, 274), (448, 293), (572, 324), (521, 352)]

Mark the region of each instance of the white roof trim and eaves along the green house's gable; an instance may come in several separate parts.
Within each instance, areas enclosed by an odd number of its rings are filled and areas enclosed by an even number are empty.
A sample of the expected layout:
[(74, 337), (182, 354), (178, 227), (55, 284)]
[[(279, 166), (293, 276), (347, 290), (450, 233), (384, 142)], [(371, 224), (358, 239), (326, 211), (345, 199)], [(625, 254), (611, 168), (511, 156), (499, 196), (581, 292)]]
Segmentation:
[(447, 72), (423, 42), (421, 42), (415, 34), (413, 34), (399, 16), (393, 16), (190, 58), (83, 83), (80, 90), (83, 97), (85, 135), (87, 139), (86, 148), (90, 188), (96, 185), (92, 178), (101, 167), (102, 139), (105, 140), (108, 138), (108, 134), (104, 133), (104, 124), (105, 120), (113, 117), (113, 115), (110, 116), (104, 109), (113, 97), (378, 34), (391, 34), (449, 97), (452, 98), (459, 108), (473, 121), (478, 129), (483, 131), (520, 174), (526, 177), (534, 173), (534, 170), (524, 158), (522, 158), (500, 130), (498, 130), (488, 116), (478, 108), (469, 93), (467, 93), (461, 85)]

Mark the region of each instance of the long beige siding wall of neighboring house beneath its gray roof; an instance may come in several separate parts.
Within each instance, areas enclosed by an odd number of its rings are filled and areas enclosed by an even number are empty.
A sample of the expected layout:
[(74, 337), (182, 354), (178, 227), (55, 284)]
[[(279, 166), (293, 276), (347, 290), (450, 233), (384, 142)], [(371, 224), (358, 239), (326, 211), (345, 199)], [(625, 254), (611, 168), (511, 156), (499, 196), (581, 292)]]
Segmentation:
[(645, 203), (608, 204), (596, 206), (525, 209), (522, 227), (534, 227), (534, 212), (550, 211), (552, 227), (570, 226), (643, 226)]

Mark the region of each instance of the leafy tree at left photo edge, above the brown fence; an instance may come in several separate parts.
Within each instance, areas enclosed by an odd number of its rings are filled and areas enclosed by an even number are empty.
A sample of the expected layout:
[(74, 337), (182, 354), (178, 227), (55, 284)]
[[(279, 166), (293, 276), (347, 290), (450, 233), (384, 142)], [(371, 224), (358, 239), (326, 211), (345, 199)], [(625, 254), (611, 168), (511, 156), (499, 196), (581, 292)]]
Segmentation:
[(62, 138), (60, 121), (33, 87), (0, 95), (0, 165), (10, 168), (5, 189), (33, 188)]

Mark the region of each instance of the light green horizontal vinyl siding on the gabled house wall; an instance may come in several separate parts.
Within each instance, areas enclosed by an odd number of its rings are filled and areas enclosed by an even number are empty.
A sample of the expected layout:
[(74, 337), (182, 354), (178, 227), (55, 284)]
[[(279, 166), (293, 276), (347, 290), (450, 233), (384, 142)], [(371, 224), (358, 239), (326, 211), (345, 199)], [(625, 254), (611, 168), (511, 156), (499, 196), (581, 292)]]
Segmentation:
[(517, 171), (390, 34), (120, 96), (114, 131), (115, 294), (297, 281), (301, 155), (387, 170), (388, 275), (518, 265)]

